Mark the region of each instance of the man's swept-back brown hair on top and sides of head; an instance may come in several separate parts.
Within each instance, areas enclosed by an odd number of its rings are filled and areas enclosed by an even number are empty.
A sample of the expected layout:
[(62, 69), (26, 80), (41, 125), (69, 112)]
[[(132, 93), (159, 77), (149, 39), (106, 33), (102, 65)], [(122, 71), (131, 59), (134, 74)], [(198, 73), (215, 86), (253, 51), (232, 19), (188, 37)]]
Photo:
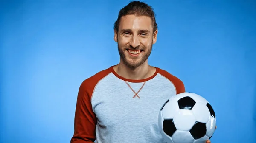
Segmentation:
[(119, 11), (116, 22), (114, 23), (114, 30), (118, 31), (119, 23), (122, 16), (125, 15), (148, 16), (153, 22), (153, 34), (157, 30), (157, 23), (155, 19), (154, 9), (148, 4), (140, 1), (132, 1), (127, 6)]

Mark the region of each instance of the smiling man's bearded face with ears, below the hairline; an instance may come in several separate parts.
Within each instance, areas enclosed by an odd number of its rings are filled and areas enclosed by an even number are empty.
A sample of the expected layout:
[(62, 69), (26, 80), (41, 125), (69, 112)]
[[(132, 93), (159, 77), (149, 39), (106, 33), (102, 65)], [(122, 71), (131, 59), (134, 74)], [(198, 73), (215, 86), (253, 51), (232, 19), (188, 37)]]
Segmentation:
[(127, 15), (121, 18), (119, 31), (115, 31), (114, 39), (118, 44), (121, 61), (130, 68), (136, 68), (151, 54), (157, 31), (153, 34), (150, 17)]

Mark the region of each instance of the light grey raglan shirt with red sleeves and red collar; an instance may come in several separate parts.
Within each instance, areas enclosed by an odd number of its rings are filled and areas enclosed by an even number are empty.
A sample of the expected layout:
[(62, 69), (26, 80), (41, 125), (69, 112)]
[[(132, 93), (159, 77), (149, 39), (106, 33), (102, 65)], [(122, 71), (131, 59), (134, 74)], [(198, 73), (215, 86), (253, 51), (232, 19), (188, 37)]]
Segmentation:
[(185, 92), (183, 82), (158, 67), (142, 80), (125, 79), (113, 66), (79, 87), (71, 143), (166, 143), (158, 128), (160, 108)]

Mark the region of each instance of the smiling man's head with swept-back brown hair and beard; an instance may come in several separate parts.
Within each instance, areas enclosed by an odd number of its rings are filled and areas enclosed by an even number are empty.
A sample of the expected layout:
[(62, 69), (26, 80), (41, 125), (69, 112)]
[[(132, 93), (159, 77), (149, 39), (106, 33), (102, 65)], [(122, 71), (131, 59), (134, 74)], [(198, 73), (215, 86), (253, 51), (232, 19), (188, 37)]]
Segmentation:
[(157, 41), (157, 23), (153, 8), (133, 1), (119, 11), (114, 24), (114, 40), (118, 43), (121, 61), (136, 68), (147, 61)]

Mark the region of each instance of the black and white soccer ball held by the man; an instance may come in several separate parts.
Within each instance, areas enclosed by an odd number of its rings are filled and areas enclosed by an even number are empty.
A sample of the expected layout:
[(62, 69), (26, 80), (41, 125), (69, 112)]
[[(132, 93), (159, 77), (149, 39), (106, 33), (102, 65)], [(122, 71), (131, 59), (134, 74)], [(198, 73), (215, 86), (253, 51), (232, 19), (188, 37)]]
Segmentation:
[(167, 143), (206, 143), (215, 132), (215, 112), (195, 93), (180, 93), (161, 107), (158, 126)]

